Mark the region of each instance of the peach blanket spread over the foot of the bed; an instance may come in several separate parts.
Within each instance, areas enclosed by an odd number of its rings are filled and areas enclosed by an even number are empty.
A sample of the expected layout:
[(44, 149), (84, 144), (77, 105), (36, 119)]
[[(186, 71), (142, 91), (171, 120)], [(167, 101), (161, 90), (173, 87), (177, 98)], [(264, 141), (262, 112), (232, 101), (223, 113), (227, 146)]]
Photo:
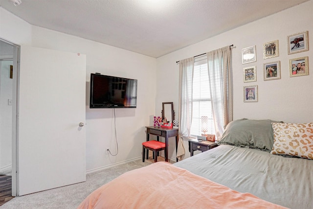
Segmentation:
[(170, 163), (122, 174), (93, 191), (78, 209), (286, 209)]

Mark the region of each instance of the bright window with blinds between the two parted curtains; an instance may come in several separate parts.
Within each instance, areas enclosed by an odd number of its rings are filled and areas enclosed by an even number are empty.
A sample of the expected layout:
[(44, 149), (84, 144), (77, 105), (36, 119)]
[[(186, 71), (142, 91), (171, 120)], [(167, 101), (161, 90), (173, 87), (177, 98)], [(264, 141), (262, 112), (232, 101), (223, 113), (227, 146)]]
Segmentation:
[(206, 56), (195, 59), (191, 135), (215, 134)]

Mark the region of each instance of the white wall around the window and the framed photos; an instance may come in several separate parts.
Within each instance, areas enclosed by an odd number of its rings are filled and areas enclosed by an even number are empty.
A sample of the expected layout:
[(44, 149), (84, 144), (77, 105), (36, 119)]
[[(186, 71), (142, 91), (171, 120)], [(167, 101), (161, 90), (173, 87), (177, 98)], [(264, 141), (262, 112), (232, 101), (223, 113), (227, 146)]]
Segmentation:
[[(310, 75), (289, 77), (289, 59), (309, 56), (313, 63), (313, 0), (260, 19), (253, 23), (227, 31), (192, 46), (185, 47), (157, 59), (158, 86), (168, 85), (169, 93), (158, 88), (156, 113), (160, 112), (162, 101), (174, 102), (178, 116), (179, 65), (176, 61), (196, 56), (227, 45), (232, 48), (233, 71), (233, 118), (273, 119), (285, 122), (313, 122), (313, 65)], [(299, 13), (299, 15), (294, 15)], [(288, 55), (287, 36), (309, 31), (309, 51)], [(279, 57), (263, 59), (263, 44), (279, 40)], [(242, 49), (256, 46), (257, 61), (242, 64)], [(263, 64), (280, 61), (281, 79), (263, 80)], [(257, 81), (244, 83), (243, 68), (256, 65)], [(244, 102), (243, 87), (258, 85), (258, 102)], [(186, 156), (189, 157), (188, 142), (184, 141)], [(174, 144), (170, 144), (174, 147)], [(174, 149), (172, 151), (174, 156)], [(171, 154), (170, 154), (171, 155)]]

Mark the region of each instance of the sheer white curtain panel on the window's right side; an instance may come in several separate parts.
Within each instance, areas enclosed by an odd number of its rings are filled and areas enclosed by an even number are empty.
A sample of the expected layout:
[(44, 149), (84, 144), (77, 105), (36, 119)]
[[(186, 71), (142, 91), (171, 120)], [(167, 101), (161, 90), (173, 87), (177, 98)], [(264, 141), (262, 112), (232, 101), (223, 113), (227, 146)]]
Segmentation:
[(233, 119), (230, 46), (206, 53), (216, 136), (221, 139), (224, 126)]

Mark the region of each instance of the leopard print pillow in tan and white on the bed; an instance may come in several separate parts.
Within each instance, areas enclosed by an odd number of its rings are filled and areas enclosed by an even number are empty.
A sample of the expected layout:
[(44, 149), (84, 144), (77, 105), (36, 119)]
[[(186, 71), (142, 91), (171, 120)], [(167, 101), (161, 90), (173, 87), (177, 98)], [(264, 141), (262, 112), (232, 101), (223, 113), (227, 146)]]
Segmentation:
[(274, 144), (271, 154), (313, 160), (313, 123), (272, 123)]

